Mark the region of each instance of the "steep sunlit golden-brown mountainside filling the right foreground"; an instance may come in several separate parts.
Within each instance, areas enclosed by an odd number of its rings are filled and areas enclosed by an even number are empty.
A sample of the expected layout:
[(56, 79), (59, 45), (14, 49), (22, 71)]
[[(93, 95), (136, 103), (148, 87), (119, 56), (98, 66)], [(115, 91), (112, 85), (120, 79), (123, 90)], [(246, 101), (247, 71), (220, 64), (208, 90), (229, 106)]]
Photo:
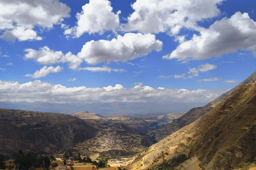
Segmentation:
[(134, 157), (127, 170), (233, 170), (256, 161), (256, 82)]

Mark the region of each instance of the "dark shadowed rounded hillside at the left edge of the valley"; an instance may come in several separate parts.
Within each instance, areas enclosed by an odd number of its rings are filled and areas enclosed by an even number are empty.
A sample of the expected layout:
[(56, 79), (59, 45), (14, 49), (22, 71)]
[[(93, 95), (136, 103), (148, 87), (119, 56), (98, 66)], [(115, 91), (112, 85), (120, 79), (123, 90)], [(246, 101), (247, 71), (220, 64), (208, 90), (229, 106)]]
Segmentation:
[(97, 127), (70, 115), (0, 109), (0, 152), (58, 153), (91, 139)]

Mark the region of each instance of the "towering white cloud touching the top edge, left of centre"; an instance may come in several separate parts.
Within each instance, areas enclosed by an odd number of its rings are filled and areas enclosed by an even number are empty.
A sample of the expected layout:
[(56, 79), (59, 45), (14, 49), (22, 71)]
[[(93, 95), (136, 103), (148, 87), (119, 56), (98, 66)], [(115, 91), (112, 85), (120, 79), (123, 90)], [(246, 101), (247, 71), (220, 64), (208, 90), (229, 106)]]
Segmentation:
[(119, 26), (119, 14), (112, 12), (111, 2), (108, 0), (90, 0), (82, 7), (81, 13), (76, 14), (77, 23), (73, 28), (65, 29), (64, 34), (73, 34), (73, 37), (80, 37), (84, 33), (103, 34), (104, 31), (115, 30)]

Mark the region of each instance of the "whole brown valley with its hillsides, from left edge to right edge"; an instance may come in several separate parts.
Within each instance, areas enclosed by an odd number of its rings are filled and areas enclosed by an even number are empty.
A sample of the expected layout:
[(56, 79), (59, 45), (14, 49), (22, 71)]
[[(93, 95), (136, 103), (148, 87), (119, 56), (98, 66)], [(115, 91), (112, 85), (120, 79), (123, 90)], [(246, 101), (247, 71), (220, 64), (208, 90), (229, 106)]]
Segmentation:
[[(207, 105), (187, 113), (102, 116), (89, 111), (68, 115), (0, 109), (0, 153), (13, 159), (13, 153), (20, 149), (24, 153), (34, 150), (60, 157), (59, 164), (72, 153), (75, 170), (93, 170), (102, 160), (106, 164), (102, 170), (253, 167), (255, 79), (256, 72)], [(82, 163), (87, 157), (91, 162)]]

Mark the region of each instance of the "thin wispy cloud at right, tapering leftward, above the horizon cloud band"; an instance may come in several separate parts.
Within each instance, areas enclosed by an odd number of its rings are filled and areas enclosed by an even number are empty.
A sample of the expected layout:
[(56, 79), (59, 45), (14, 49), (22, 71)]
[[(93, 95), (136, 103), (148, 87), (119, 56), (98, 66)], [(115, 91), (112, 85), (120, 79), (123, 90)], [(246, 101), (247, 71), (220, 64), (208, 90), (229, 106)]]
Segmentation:
[[(202, 64), (200, 66), (198, 66), (198, 68), (189, 68), (189, 71), (187, 73), (181, 74), (181, 75), (169, 75), (169, 76), (159, 76), (159, 78), (175, 78), (175, 79), (192, 79), (194, 77), (198, 77), (199, 76), (199, 72), (207, 72), (207, 71), (211, 71), (213, 69), (217, 68), (217, 65), (212, 65), (209, 63), (206, 64)], [(192, 76), (191, 76), (192, 75)]]

